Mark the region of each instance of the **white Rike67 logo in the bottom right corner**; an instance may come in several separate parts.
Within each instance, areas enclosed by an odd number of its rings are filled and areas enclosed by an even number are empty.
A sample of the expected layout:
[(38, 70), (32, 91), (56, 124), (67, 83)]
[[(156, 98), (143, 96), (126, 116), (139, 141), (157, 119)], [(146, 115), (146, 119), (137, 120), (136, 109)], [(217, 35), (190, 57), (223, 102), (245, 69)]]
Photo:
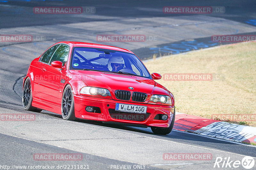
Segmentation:
[(214, 168), (241, 168), (241, 165), (245, 169), (251, 169), (254, 166), (254, 159), (251, 156), (245, 156), (242, 161), (240, 160), (230, 160), (230, 157), (217, 157), (214, 163)]

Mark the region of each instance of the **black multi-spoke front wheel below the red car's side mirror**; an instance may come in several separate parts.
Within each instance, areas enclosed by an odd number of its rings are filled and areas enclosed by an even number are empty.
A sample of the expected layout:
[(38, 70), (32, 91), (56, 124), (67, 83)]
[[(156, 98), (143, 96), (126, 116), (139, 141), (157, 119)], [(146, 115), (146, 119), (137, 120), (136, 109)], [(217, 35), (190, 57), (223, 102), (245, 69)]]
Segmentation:
[(61, 115), (64, 120), (76, 120), (74, 94), (69, 84), (63, 90), (61, 99)]

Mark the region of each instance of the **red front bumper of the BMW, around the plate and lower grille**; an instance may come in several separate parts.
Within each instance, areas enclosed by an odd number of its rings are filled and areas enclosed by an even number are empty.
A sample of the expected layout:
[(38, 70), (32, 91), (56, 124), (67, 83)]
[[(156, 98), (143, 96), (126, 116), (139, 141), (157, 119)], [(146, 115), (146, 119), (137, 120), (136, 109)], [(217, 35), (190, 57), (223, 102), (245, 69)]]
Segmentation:
[[(155, 126), (155, 127), (169, 127), (172, 121), (174, 106), (166, 106), (166, 105), (156, 105), (156, 104), (146, 104), (146, 103), (137, 103), (137, 102), (127, 102), (127, 101), (119, 101), (105, 98), (97, 98), (97, 97), (89, 97), (89, 96), (81, 96), (74, 95), (75, 102), (75, 116), (81, 119), (87, 120), (96, 120), (103, 122), (117, 122), (124, 124), (134, 124), (134, 125), (142, 125), (142, 126)], [(110, 115), (110, 110), (115, 110), (116, 103), (123, 104), (133, 104), (133, 105), (141, 105), (147, 106), (147, 117), (145, 120), (134, 121), (132, 118), (143, 117), (144, 114), (127, 114), (128, 116), (113, 116)], [(92, 113), (87, 112), (85, 110), (86, 106), (99, 107), (100, 113)], [(168, 115), (167, 120), (156, 120), (154, 119), (157, 114), (166, 114)], [(135, 116), (136, 115), (136, 116)], [(123, 120), (125, 117), (126, 120)], [(120, 118), (120, 119), (119, 119)]]

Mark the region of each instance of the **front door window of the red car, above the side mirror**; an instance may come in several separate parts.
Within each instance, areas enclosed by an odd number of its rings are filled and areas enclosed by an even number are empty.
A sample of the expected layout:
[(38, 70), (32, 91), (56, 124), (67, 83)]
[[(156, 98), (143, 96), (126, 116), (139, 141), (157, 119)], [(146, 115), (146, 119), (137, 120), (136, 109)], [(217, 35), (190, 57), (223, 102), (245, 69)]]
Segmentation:
[(50, 64), (52, 61), (61, 61), (64, 66), (65, 62), (68, 60), (69, 46), (65, 44), (61, 44), (55, 53), (52, 56)]

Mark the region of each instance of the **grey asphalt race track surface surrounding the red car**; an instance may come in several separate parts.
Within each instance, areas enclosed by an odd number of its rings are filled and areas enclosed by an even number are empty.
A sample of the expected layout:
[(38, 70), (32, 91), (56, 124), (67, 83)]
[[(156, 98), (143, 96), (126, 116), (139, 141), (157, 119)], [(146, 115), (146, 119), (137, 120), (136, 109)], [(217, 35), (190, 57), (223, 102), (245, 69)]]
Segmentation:
[[(209, 39), (205, 38), (212, 35), (256, 32), (254, 25), (245, 23), (247, 20), (256, 19), (255, 4), (255, 1), (156, 3), (97, 0), (83, 3), (70, 0), (1, 3), (0, 34), (31, 34), (34, 41), (0, 42), (0, 113), (35, 114), (36, 119), (30, 122), (0, 121), (0, 164), (88, 165), (90, 169), (113, 169), (111, 165), (145, 165), (145, 169), (214, 169), (217, 157), (230, 157), (231, 160), (240, 161), (244, 156), (256, 158), (256, 147), (236, 142), (175, 130), (165, 136), (154, 135), (150, 128), (85, 120), (64, 121), (60, 115), (48, 111), (25, 111), (22, 109), (20, 97), (22, 78), (27, 73), (30, 62), (56, 42), (65, 40), (101, 43), (128, 48), (141, 54), (148, 53), (150, 48), (183, 41), (197, 40), (198, 43), (209, 44)], [(33, 13), (35, 6), (94, 6), (96, 13), (38, 15)], [(169, 15), (163, 13), (164, 6), (225, 6), (226, 12)], [(147, 40), (98, 42), (98, 34), (144, 34)], [(149, 37), (154, 36), (155, 40), (149, 40)], [(81, 153), (83, 160), (36, 161), (33, 159), (35, 153)], [(169, 161), (163, 159), (164, 153), (211, 153), (212, 160)]]

